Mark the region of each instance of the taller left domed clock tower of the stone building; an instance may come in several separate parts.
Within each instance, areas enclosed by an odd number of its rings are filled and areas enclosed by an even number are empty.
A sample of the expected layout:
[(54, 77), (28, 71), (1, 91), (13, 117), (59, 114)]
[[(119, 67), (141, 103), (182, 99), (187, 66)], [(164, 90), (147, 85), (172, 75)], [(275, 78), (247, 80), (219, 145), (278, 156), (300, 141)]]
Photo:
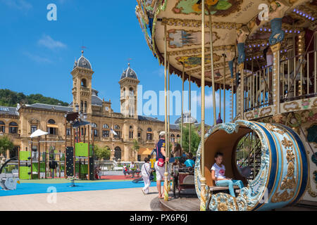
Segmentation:
[(82, 113), (92, 114), (92, 65), (82, 56), (75, 60), (73, 71), (73, 110), (78, 104)]

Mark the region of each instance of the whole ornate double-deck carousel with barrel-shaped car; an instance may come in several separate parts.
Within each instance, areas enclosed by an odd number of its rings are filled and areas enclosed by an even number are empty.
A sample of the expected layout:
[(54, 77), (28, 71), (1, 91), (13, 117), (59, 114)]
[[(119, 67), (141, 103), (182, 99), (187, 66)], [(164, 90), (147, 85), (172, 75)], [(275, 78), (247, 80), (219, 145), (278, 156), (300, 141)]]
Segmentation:
[[(165, 67), (165, 91), (170, 75), (180, 77), (182, 91), (187, 80), (189, 94), (191, 82), (201, 88), (194, 168), (200, 210), (317, 205), (317, 1), (137, 0), (135, 11)], [(216, 92), (222, 96), (209, 131), (205, 88), (212, 89), (213, 104)], [(217, 115), (223, 115), (220, 124)], [(219, 151), (226, 175), (244, 184), (235, 197), (211, 179)], [(165, 175), (168, 201), (167, 167)]]

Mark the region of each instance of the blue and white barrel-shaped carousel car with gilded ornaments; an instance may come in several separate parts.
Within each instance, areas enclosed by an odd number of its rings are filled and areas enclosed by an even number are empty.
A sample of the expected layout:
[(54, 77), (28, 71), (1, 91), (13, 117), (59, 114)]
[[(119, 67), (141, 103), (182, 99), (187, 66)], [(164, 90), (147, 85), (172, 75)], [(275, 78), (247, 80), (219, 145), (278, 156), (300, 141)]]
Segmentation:
[[(246, 179), (237, 168), (236, 150), (245, 135), (254, 132), (260, 143), (254, 142), (254, 151), (260, 149), (261, 164), (253, 179)], [(209, 210), (272, 210), (293, 205), (302, 197), (308, 184), (309, 165), (306, 150), (298, 134), (282, 124), (267, 124), (237, 120), (218, 124), (205, 135), (204, 162), (201, 162), (201, 144), (195, 163), (195, 186), (201, 198), (201, 167), (205, 167), (206, 209)], [(252, 146), (251, 146), (252, 147)], [(211, 193), (215, 188), (210, 168), (214, 155), (221, 151), (225, 174), (240, 179), (244, 188), (236, 198), (228, 193)]]

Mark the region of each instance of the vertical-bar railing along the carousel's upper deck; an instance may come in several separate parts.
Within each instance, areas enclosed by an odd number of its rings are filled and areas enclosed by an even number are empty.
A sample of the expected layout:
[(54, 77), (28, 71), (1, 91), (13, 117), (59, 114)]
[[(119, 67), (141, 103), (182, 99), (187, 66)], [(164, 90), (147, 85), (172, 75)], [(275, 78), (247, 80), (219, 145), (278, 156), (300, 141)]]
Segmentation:
[[(317, 96), (317, 51), (280, 60), (280, 103)], [(273, 66), (244, 75), (244, 112), (273, 105)]]

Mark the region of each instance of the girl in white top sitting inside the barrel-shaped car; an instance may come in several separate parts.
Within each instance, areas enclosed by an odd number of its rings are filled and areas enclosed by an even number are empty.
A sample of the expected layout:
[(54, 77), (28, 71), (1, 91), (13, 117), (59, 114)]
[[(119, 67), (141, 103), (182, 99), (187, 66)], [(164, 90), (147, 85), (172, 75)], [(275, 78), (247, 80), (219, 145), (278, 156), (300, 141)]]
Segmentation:
[(235, 197), (235, 191), (233, 191), (233, 186), (239, 186), (243, 188), (243, 183), (240, 180), (232, 180), (225, 176), (225, 165), (223, 162), (223, 153), (216, 153), (215, 155), (216, 163), (211, 167), (211, 179), (215, 181), (216, 186), (228, 186), (229, 192), (232, 197)]

